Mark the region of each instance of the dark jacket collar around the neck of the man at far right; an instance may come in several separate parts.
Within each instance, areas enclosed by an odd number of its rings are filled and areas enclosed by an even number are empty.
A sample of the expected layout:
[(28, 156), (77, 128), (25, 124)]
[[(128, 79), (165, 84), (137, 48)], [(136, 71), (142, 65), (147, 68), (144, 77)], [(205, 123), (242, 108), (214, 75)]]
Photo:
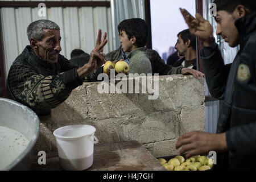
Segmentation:
[(250, 34), (256, 30), (256, 11), (236, 20), (235, 25), (240, 36), (240, 46), (243, 48)]

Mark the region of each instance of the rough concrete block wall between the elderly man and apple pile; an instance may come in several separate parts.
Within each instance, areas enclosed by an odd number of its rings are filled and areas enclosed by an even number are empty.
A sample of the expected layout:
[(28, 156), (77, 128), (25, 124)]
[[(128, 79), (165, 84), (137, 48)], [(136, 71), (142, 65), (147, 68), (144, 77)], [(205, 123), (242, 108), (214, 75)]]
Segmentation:
[[(156, 79), (152, 77), (152, 82)], [(96, 127), (99, 144), (137, 140), (155, 157), (178, 154), (175, 143), (181, 134), (205, 130), (203, 78), (159, 76), (156, 100), (148, 100), (152, 95), (148, 93), (100, 94), (99, 84), (85, 82), (52, 109), (50, 116), (40, 118), (41, 133), (34, 152), (56, 151), (52, 133), (67, 125)]]

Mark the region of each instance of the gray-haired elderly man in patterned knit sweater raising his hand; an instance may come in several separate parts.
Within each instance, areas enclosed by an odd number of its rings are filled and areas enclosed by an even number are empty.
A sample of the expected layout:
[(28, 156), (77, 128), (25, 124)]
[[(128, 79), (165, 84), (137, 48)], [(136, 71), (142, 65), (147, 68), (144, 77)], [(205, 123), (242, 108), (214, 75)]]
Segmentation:
[(108, 42), (106, 32), (98, 31), (96, 47), (90, 60), (81, 68), (73, 67), (60, 55), (60, 28), (50, 20), (37, 20), (27, 28), (30, 46), (16, 57), (6, 84), (7, 97), (36, 112), (47, 115), (64, 102), (86, 77), (105, 63), (103, 48)]

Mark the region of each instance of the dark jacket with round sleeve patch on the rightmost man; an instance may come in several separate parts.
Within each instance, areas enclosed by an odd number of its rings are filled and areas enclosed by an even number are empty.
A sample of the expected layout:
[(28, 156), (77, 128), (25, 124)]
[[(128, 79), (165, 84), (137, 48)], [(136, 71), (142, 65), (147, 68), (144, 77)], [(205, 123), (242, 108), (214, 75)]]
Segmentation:
[(210, 94), (223, 100), (217, 133), (226, 133), (228, 152), (217, 155), (215, 169), (256, 169), (256, 12), (236, 22), (240, 51), (224, 65), (216, 43), (201, 59)]

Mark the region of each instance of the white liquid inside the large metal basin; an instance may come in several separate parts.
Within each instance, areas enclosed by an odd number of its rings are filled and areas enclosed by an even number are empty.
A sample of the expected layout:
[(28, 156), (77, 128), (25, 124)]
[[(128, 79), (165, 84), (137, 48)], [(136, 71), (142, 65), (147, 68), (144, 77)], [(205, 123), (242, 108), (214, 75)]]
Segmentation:
[(28, 139), (19, 131), (0, 126), (0, 170), (11, 164), (27, 147)]

